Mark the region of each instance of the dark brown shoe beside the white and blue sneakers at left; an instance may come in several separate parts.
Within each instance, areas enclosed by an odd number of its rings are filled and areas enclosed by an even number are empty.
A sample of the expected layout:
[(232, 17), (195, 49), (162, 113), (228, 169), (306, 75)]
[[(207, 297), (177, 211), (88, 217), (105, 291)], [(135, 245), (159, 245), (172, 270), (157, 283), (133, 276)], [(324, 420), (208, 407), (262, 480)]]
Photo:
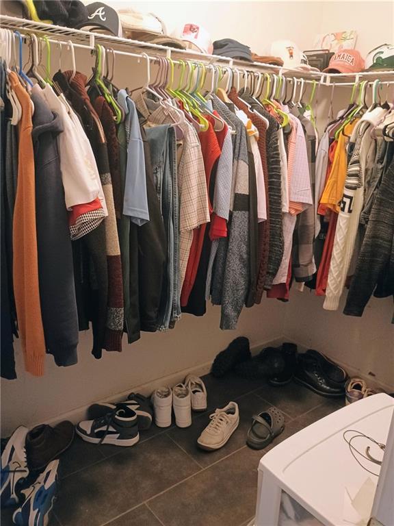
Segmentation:
[(74, 424), (68, 421), (50, 425), (38, 425), (31, 429), (26, 436), (26, 455), (29, 468), (40, 471), (51, 460), (70, 447), (74, 438)]

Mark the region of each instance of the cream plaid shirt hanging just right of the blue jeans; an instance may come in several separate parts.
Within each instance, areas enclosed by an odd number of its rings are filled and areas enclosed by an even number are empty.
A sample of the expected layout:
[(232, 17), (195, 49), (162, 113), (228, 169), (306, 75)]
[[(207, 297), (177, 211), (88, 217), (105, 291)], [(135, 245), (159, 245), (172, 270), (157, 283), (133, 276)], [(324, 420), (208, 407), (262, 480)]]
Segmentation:
[(179, 286), (182, 288), (185, 279), (187, 260), (192, 246), (193, 230), (204, 223), (209, 223), (209, 206), (207, 182), (205, 180), (204, 160), (196, 130), (187, 123), (179, 123), (179, 111), (170, 105), (164, 108), (155, 104), (149, 112), (142, 94), (138, 94), (135, 105), (142, 115), (153, 124), (177, 123), (183, 132), (183, 149), (178, 166), (179, 189)]

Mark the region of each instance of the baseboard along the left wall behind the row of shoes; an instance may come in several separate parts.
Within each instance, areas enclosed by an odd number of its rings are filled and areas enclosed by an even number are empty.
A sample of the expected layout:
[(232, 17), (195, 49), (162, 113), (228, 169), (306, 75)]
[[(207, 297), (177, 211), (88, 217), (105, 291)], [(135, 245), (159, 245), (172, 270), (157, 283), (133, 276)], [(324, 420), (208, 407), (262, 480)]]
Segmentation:
[[(275, 347), (277, 345), (280, 345), (282, 342), (283, 342), (283, 338), (280, 338), (280, 337), (274, 338), (274, 340), (260, 342), (250, 347), (250, 352), (252, 353), (252, 355), (255, 355), (259, 353), (259, 351), (261, 351), (263, 347), (267, 347), (268, 345), (272, 345)], [(88, 405), (83, 405), (69, 412), (57, 415), (53, 418), (50, 418), (45, 423), (53, 425), (53, 424), (57, 424), (64, 420), (69, 420), (76, 424), (80, 422), (81, 420), (86, 419), (86, 416), (88, 413), (88, 407), (92, 403), (100, 403), (100, 402), (114, 403), (114, 402), (126, 399), (127, 395), (129, 395), (130, 392), (140, 392), (142, 395), (147, 397), (155, 389), (157, 389), (160, 386), (175, 386), (176, 384), (179, 384), (179, 382), (183, 381), (185, 377), (187, 377), (187, 375), (196, 375), (196, 376), (207, 375), (209, 371), (211, 371), (211, 365), (212, 365), (212, 360), (210, 362), (205, 362), (204, 364), (199, 364), (194, 367), (183, 369), (182, 371), (176, 371), (176, 373), (172, 373), (171, 375), (154, 379), (152, 381), (149, 381), (146, 384), (130, 386), (130, 388), (127, 389), (126, 391), (118, 392), (116, 393), (116, 395), (111, 395), (110, 397), (107, 397), (105, 399), (92, 400), (90, 404)], [(34, 425), (32, 425), (31, 427), (34, 427)]]

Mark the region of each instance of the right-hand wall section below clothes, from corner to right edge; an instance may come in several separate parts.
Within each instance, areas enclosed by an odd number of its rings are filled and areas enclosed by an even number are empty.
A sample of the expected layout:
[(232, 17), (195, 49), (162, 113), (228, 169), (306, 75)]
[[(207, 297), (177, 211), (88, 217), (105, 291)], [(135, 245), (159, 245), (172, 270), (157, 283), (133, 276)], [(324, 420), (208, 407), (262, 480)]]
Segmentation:
[(345, 368), (378, 380), (394, 391), (394, 305), (392, 298), (371, 298), (361, 318), (323, 309), (324, 298), (293, 290), (286, 305), (285, 338), (318, 349)]

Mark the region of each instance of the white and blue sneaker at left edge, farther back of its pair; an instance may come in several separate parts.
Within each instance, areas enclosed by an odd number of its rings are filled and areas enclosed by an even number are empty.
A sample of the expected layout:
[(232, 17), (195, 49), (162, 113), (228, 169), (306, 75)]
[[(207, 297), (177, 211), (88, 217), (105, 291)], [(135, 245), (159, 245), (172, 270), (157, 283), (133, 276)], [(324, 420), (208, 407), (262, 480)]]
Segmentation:
[(1, 455), (1, 507), (12, 506), (20, 502), (18, 492), (23, 481), (29, 475), (27, 467), (25, 441), (29, 429), (21, 425), (15, 429)]

